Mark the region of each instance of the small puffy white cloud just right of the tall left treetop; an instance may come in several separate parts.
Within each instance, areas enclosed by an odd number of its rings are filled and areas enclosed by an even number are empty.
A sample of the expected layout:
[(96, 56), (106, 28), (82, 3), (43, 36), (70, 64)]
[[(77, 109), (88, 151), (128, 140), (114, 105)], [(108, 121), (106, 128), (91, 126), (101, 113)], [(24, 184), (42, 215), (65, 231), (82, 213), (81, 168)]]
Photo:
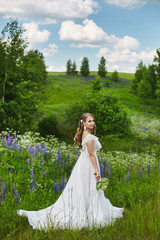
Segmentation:
[(24, 29), (26, 29), (24, 37), (28, 39), (30, 48), (37, 43), (47, 42), (51, 35), (48, 30), (43, 29), (42, 31), (40, 31), (37, 23), (24, 23), (23, 27)]

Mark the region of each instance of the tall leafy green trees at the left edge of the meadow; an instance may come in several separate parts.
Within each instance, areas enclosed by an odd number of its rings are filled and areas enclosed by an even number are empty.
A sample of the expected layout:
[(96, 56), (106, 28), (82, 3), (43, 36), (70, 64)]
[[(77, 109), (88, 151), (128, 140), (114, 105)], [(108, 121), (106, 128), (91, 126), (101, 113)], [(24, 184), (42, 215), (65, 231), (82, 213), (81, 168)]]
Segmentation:
[(7, 23), (0, 39), (0, 129), (7, 127), (24, 132), (34, 125), (40, 87), (47, 72), (43, 55), (36, 51), (24, 51), (27, 42), (24, 29), (14, 20)]

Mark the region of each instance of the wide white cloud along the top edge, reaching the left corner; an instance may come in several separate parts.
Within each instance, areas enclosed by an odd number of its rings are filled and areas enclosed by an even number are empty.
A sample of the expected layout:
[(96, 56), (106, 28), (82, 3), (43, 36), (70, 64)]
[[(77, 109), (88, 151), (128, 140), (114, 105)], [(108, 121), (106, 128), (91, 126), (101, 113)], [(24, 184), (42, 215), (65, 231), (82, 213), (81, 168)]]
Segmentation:
[(94, 0), (0, 0), (0, 14), (23, 19), (86, 18), (98, 7)]

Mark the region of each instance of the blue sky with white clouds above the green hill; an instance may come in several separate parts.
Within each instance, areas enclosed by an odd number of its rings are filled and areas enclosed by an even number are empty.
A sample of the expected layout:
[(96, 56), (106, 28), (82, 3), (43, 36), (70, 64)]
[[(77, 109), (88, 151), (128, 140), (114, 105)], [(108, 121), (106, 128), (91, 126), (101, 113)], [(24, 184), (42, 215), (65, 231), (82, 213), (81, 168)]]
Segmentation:
[(0, 31), (11, 18), (48, 71), (66, 71), (68, 59), (79, 70), (83, 57), (97, 71), (104, 56), (108, 71), (134, 73), (160, 48), (160, 0), (0, 0)]

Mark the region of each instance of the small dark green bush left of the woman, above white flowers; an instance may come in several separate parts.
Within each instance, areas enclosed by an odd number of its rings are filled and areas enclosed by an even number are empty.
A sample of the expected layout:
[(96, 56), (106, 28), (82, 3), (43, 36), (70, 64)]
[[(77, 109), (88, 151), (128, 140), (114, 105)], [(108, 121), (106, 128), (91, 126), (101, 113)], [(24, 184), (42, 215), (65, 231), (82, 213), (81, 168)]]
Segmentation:
[(47, 135), (60, 136), (59, 124), (55, 115), (46, 116), (38, 123), (38, 131), (42, 137)]

